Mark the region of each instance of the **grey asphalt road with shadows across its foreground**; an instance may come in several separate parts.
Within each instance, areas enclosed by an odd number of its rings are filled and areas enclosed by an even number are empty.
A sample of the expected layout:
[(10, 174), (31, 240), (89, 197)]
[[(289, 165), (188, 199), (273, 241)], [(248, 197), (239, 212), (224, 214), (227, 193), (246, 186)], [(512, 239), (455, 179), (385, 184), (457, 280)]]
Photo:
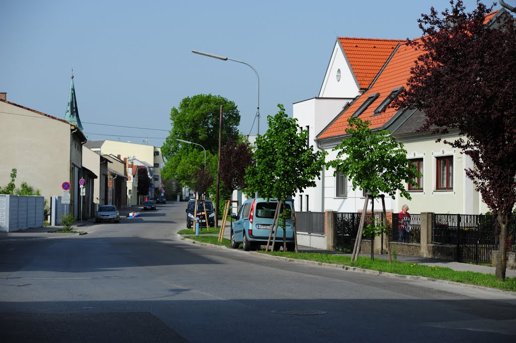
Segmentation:
[(1, 341), (516, 341), (514, 295), (199, 246), (185, 206), (0, 235)]

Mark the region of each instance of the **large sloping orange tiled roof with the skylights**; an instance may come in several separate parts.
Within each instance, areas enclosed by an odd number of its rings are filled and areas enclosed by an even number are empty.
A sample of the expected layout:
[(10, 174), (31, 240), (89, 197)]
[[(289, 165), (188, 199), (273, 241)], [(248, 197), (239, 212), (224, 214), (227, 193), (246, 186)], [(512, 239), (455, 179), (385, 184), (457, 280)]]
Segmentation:
[[(498, 11), (494, 11), (486, 15), (486, 23), (491, 20)], [(414, 62), (418, 56), (423, 54), (421, 50), (415, 50), (412, 46), (401, 44), (392, 59), (389, 61), (385, 69), (382, 71), (373, 87), (362, 94), (340, 117), (331, 123), (317, 139), (342, 136), (346, 134), (348, 126), (347, 120), (353, 113), (367, 100), (369, 95), (380, 93), (376, 100), (370, 104), (367, 109), (362, 112), (360, 119), (371, 122), (370, 128), (379, 128), (385, 125), (392, 116), (397, 112), (396, 108), (387, 108), (380, 115), (375, 116), (375, 109), (385, 100), (393, 89), (398, 87), (407, 88), (407, 80), (410, 77), (410, 69), (414, 66)], [(386, 60), (386, 58), (385, 58)], [(382, 64), (383, 66), (383, 64)], [(380, 67), (381, 69), (381, 67)]]

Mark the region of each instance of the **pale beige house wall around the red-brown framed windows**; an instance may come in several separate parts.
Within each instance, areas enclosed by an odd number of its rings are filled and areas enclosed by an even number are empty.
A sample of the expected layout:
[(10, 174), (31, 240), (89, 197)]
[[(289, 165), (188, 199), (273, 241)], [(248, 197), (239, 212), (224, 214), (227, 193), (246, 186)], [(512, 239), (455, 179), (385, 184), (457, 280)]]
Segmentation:
[[(487, 206), (481, 200), (481, 195), (475, 190), (473, 182), (467, 178), (464, 169), (473, 167), (473, 162), (468, 156), (461, 154), (460, 150), (452, 148), (443, 140), (454, 141), (458, 135), (442, 137), (441, 142), (436, 142), (437, 137), (418, 137), (399, 139), (407, 150), (409, 159), (423, 159), (423, 189), (410, 191), (412, 200), (399, 197), (397, 194), (397, 211), (402, 204), (410, 207), (410, 213), (418, 214), (433, 212), (442, 214), (480, 214), (486, 213)], [(453, 190), (437, 190), (437, 157), (453, 156), (454, 181)]]

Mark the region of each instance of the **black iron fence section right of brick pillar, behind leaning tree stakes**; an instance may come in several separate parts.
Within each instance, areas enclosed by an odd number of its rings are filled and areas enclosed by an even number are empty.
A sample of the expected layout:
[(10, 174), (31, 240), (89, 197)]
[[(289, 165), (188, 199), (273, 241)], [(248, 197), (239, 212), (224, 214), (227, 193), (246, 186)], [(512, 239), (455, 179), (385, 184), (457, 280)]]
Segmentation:
[[(361, 213), (336, 213), (333, 217), (333, 246), (336, 251), (350, 253), (357, 239)], [(371, 215), (366, 214), (365, 225), (371, 222)], [(362, 236), (362, 238), (366, 238)], [(368, 239), (368, 238), (366, 238)]]

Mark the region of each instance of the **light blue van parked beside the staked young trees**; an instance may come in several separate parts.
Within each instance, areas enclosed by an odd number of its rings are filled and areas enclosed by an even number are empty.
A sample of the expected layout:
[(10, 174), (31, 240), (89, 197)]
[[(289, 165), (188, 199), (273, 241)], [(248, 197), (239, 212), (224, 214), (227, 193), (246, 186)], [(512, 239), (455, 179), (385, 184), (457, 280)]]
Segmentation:
[[(284, 204), (286, 208), (292, 211), (292, 201), (285, 201)], [(267, 202), (267, 199), (263, 198), (246, 200), (240, 207), (238, 214), (232, 215), (235, 222), (231, 230), (231, 247), (236, 249), (240, 243), (243, 243), (244, 250), (249, 251), (251, 247), (259, 249), (260, 246), (266, 245), (267, 240), (269, 239), (272, 220), (274, 219), (277, 205), (277, 199), (270, 199), (269, 202)], [(294, 220), (292, 217), (286, 221), (285, 233), (287, 250), (294, 251)], [(283, 228), (280, 223), (278, 234), (276, 236), (276, 247), (280, 247), (282, 245)]]

